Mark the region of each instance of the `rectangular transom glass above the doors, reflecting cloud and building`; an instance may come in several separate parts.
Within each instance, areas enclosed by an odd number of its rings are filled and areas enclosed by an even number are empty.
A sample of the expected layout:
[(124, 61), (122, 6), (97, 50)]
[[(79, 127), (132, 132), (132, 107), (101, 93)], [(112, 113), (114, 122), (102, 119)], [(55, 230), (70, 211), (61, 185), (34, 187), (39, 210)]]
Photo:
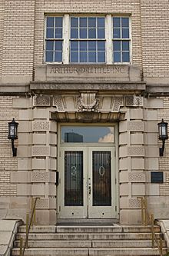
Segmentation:
[(112, 143), (114, 142), (114, 127), (62, 126), (61, 142)]

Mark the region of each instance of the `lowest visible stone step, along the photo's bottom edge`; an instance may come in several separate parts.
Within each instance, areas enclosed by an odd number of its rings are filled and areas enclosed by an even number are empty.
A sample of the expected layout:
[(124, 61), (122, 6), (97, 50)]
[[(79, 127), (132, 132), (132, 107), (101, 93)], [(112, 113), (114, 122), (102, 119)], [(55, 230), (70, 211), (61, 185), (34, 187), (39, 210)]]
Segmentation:
[[(164, 253), (166, 251), (164, 250)], [(19, 255), (19, 249), (12, 249), (12, 256)], [(25, 256), (155, 256), (157, 248), (28, 248)]]

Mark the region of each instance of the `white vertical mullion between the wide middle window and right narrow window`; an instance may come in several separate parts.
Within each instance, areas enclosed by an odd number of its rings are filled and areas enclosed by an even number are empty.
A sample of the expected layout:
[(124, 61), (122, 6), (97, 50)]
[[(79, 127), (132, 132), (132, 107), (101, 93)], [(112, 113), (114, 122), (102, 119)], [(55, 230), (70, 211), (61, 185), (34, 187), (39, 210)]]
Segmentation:
[(105, 40), (106, 40), (106, 63), (112, 64), (113, 51), (112, 51), (112, 19), (111, 15), (106, 15), (105, 18)]

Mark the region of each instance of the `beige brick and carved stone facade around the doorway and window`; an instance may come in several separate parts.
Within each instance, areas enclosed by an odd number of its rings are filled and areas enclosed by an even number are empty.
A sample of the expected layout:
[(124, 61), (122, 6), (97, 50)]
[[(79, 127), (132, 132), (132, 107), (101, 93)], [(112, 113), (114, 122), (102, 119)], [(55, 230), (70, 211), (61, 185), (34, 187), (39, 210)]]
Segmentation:
[[(117, 211), (140, 224), (138, 197), (155, 218), (168, 216), (168, 151), (159, 157), (157, 123), (169, 121), (167, 0), (2, 0), (0, 2), (0, 218), (22, 218), (39, 197), (37, 221), (58, 219), (58, 125), (116, 124)], [(130, 65), (48, 65), (45, 15), (131, 15)], [(160, 33), (159, 33), (160, 31)], [(17, 157), (8, 122), (18, 121)], [(151, 171), (164, 182), (151, 183)]]

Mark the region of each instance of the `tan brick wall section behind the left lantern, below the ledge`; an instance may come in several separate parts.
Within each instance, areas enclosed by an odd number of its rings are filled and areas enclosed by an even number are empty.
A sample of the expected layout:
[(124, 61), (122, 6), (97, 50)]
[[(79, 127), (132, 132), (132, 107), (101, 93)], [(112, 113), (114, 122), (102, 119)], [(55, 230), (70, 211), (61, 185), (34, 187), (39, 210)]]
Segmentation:
[(10, 184), (12, 171), (17, 171), (17, 158), (12, 157), (12, 143), (8, 140), (8, 121), (18, 119), (18, 110), (12, 109), (13, 97), (0, 98), (0, 196), (16, 194), (16, 185)]

